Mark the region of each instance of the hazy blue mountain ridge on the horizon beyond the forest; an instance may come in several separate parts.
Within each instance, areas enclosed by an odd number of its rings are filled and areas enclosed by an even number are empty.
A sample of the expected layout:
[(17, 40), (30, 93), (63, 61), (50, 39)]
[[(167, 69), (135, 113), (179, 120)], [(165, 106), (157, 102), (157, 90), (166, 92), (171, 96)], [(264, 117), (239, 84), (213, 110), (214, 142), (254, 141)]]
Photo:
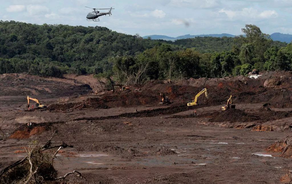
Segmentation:
[[(235, 37), (236, 35), (232, 35), (232, 34), (227, 34), (227, 33), (223, 33), (223, 34), (199, 34), (199, 35), (190, 35), (190, 34), (186, 34), (183, 36), (178, 36), (178, 37), (168, 37), (165, 35), (150, 35), (150, 36), (145, 36), (142, 37), (144, 39), (147, 39), (148, 37), (150, 37), (153, 40), (166, 40), (166, 41), (175, 41), (178, 39), (188, 39), (188, 38), (195, 38), (195, 37)], [(270, 35), (271, 39), (274, 41), (282, 41), (282, 42), (287, 42), (290, 43), (292, 41), (292, 34), (282, 34), (282, 33), (273, 33)]]

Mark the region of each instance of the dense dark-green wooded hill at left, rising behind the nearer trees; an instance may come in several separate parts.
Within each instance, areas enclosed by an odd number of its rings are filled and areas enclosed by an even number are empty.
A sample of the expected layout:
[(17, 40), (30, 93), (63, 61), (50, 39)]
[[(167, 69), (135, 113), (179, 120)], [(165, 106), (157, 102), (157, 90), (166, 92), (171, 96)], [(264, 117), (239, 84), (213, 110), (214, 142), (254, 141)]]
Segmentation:
[(156, 45), (161, 43), (105, 27), (1, 21), (0, 73), (29, 72), (60, 77), (65, 72), (103, 72), (111, 67), (108, 58), (137, 55)]

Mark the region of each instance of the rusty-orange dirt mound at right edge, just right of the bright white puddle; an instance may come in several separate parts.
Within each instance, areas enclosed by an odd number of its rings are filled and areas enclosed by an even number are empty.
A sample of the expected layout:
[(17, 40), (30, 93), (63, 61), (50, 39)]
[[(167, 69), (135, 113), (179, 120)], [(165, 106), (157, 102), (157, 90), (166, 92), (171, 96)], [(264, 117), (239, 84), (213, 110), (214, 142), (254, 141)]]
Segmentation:
[(280, 157), (292, 158), (292, 136), (286, 136), (266, 149), (269, 152), (281, 153)]

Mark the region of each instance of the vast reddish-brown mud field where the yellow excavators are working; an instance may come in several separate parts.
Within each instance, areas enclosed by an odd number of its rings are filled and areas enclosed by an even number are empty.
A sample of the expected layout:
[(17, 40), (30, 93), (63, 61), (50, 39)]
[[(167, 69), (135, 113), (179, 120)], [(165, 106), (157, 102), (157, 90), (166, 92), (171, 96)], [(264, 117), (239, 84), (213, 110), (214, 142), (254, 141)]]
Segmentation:
[[(0, 169), (58, 128), (53, 143), (74, 145), (58, 153), (58, 176), (77, 170), (86, 177), (67, 183), (291, 183), (291, 79), (290, 72), (265, 72), (112, 92), (92, 76), (0, 75)], [(187, 107), (203, 88), (208, 98)], [(160, 93), (172, 104), (160, 105)], [(28, 111), (27, 95), (48, 108)], [(222, 112), (230, 95), (236, 109)]]

